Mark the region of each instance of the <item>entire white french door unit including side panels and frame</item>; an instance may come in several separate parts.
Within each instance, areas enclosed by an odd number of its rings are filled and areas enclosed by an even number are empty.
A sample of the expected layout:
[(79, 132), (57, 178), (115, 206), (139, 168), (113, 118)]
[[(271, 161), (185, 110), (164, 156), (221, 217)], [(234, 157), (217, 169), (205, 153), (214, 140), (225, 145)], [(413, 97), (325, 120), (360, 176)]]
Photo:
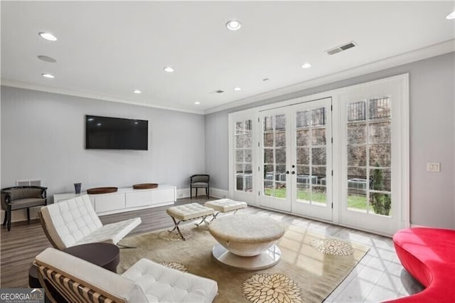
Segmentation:
[(231, 197), (385, 235), (408, 227), (408, 92), (398, 75), (230, 114)]

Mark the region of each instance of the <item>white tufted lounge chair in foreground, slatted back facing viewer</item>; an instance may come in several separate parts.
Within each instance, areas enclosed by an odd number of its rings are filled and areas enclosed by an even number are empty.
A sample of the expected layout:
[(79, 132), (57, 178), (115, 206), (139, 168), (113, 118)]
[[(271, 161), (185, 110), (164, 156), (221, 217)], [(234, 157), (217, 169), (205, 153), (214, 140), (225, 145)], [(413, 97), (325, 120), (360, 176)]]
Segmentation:
[(117, 275), (55, 248), (47, 248), (36, 256), (35, 266), (41, 277), (60, 289), (68, 302), (212, 302), (218, 293), (217, 282), (213, 280), (148, 259), (139, 260), (122, 275)]

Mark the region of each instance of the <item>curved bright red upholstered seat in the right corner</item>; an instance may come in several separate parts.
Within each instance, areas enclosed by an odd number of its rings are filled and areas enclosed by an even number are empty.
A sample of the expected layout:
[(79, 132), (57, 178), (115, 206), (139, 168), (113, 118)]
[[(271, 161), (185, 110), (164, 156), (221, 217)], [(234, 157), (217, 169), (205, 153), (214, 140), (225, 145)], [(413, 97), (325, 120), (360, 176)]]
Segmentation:
[(393, 243), (403, 267), (426, 288), (389, 302), (455, 302), (455, 230), (407, 228)]

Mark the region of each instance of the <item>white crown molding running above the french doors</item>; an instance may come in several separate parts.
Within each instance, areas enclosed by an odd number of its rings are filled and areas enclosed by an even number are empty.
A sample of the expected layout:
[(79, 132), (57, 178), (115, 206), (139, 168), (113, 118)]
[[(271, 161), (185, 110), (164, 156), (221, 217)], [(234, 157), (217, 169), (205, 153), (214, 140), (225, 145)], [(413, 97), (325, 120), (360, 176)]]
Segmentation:
[(219, 105), (216, 107), (210, 107), (205, 110), (205, 115), (211, 114), (213, 112), (220, 112), (222, 110), (230, 110), (235, 107), (242, 105), (247, 105), (250, 103), (267, 100), (273, 97), (279, 97), (281, 95), (287, 95), (291, 92), (298, 92), (299, 90), (306, 90), (311, 87), (316, 87), (319, 85), (325, 85), (328, 83), (334, 83), (340, 80), (346, 80), (349, 78), (358, 77), (360, 75), (365, 75), (368, 73), (374, 73), (379, 70), (385, 70), (387, 68), (394, 68), (399, 65), (404, 65), (407, 63), (412, 63), (419, 60), (424, 60), (427, 58), (432, 58), (437, 55), (443, 55), (444, 53), (451, 53), (455, 51), (455, 39), (444, 41), (441, 43), (434, 44), (432, 46), (427, 46), (424, 48), (419, 48), (417, 50), (412, 50), (407, 53), (402, 53), (400, 55), (395, 55), (383, 60), (378, 60), (373, 63), (368, 63), (364, 65), (359, 65), (355, 68), (350, 68), (348, 70), (342, 70), (338, 73), (333, 73), (330, 75), (325, 75), (319, 78), (314, 78), (307, 80), (301, 83), (294, 85), (289, 85), (287, 87), (282, 87), (277, 90), (271, 90), (269, 92), (264, 92), (263, 94), (254, 95), (252, 97), (247, 97), (245, 99), (237, 100), (230, 102), (224, 105)]

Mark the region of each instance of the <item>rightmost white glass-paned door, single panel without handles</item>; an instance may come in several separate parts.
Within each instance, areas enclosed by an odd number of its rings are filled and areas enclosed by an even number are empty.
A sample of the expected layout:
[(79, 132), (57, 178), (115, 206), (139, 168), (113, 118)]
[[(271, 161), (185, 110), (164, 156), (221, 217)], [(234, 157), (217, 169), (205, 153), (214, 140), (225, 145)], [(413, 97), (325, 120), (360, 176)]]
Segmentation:
[(406, 152), (397, 83), (371, 85), (339, 97), (340, 223), (393, 234), (405, 220)]

